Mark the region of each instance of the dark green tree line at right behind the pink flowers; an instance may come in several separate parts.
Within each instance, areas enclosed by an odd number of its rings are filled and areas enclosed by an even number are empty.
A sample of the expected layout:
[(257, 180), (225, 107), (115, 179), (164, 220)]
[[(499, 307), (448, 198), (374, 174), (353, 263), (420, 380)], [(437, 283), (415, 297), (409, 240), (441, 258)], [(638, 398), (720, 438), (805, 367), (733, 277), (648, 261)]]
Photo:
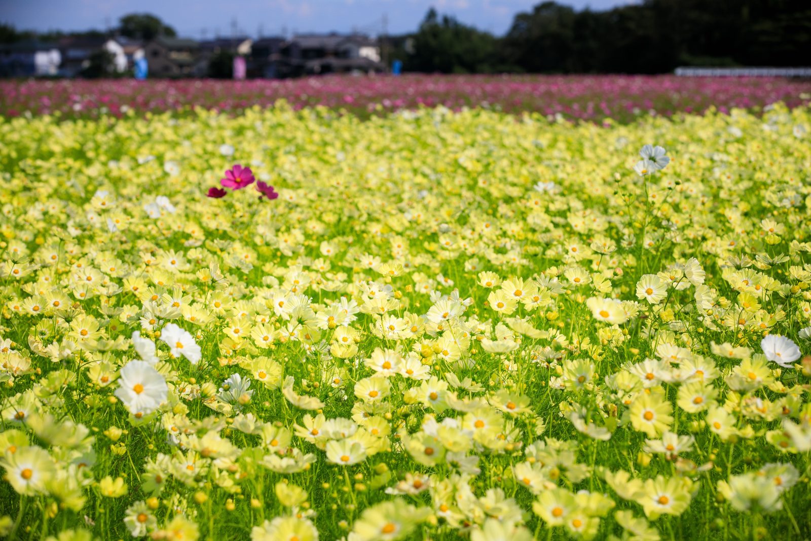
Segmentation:
[(417, 32), (393, 43), (390, 56), (405, 71), (441, 73), (808, 66), (811, 0), (644, 0), (607, 11), (542, 2), (515, 15), (504, 36), (431, 9)]

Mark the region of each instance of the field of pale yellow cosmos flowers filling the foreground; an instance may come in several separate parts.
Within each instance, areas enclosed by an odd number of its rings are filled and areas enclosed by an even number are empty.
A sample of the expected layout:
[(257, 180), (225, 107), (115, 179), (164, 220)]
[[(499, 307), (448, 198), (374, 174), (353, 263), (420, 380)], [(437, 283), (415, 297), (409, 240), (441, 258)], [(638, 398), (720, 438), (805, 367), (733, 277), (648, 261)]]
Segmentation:
[(788, 105), (0, 118), (0, 536), (808, 538)]

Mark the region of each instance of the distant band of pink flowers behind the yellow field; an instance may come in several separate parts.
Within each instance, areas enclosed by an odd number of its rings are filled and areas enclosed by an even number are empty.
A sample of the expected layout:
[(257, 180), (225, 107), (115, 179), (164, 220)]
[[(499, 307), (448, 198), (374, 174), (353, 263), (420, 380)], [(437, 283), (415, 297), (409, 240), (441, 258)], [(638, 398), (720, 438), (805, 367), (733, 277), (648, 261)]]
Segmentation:
[(688, 78), (674, 75), (404, 75), (325, 76), (307, 79), (220, 81), (132, 79), (2, 81), (0, 115), (95, 117), (122, 110), (238, 111), (284, 98), (295, 108), (325, 105), (358, 114), (444, 105), (537, 111), (567, 118), (627, 120), (637, 114), (726, 112), (783, 101), (811, 101), (811, 82), (770, 78)]

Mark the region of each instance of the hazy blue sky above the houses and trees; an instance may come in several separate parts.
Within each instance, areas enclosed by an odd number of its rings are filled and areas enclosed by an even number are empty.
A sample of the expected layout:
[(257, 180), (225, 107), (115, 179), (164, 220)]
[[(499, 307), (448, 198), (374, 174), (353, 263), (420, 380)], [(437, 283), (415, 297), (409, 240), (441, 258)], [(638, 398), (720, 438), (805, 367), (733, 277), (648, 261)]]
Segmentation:
[[(577, 8), (603, 10), (639, 0), (559, 0)], [(150, 12), (174, 26), (182, 36), (230, 35), (236, 19), (248, 35), (291, 32), (376, 34), (388, 16), (388, 32), (417, 28), (429, 7), (456, 15), (466, 24), (495, 33), (506, 32), (518, 11), (540, 0), (0, 0), (0, 21), (17, 28), (85, 30), (114, 25), (118, 17)], [(205, 32), (205, 34), (203, 33)]]

